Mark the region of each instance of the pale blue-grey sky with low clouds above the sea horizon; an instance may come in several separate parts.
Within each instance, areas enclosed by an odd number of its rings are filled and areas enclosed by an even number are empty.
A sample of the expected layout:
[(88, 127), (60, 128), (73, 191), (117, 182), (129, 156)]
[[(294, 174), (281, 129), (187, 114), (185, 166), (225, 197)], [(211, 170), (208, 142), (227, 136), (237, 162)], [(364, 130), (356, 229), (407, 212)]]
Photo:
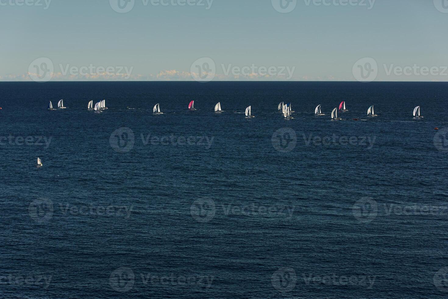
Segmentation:
[(0, 81), (448, 81), (447, 25), (448, 0), (0, 0)]

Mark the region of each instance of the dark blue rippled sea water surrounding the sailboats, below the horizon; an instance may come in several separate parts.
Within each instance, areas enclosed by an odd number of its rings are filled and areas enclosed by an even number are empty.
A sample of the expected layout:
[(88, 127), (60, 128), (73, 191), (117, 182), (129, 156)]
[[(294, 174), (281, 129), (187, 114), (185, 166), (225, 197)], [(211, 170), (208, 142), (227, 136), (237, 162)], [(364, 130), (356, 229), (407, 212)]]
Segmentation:
[[(447, 83), (0, 83), (0, 296), (446, 298), (447, 95)], [(67, 109), (47, 111), (60, 99)], [(108, 110), (86, 109), (102, 99)]]

